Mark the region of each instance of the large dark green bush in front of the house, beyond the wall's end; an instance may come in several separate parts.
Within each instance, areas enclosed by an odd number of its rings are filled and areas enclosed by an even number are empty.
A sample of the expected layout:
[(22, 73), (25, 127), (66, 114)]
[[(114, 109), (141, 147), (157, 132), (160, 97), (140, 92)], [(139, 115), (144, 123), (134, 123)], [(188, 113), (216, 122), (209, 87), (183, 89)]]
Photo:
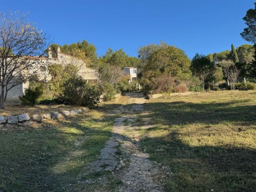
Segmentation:
[(63, 84), (63, 94), (59, 98), (72, 105), (95, 105), (99, 102), (100, 91), (82, 77), (72, 77)]

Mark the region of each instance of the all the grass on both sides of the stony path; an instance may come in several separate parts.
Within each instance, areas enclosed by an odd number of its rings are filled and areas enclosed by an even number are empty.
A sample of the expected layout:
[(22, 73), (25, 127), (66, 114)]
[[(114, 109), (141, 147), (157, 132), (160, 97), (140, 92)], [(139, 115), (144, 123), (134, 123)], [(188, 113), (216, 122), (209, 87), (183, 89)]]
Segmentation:
[[(1, 128), (0, 191), (115, 191), (122, 181), (111, 173), (84, 173), (109, 140), (114, 118), (125, 115), (108, 111), (134, 106), (123, 98), (63, 121)], [(141, 105), (138, 128), (125, 134), (159, 167), (171, 169), (165, 191), (255, 192), (256, 91), (163, 96)], [(63, 109), (71, 107), (8, 107), (1, 114)]]

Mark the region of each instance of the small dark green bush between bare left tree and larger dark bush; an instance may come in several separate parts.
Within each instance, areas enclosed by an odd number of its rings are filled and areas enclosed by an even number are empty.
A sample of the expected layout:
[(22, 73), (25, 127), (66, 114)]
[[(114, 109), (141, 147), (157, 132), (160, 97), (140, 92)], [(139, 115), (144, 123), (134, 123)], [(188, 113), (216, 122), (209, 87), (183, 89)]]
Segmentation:
[(23, 105), (30, 105), (34, 106), (37, 104), (37, 100), (40, 96), (43, 95), (43, 87), (37, 86), (32, 88), (25, 89), (24, 96), (19, 96), (19, 99), (21, 100), (21, 103)]

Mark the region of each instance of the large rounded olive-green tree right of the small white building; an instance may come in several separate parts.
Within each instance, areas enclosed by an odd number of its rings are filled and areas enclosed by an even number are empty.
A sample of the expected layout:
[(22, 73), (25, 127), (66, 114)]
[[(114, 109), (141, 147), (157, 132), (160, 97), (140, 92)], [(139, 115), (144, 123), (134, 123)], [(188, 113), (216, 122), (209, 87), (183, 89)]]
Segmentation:
[(142, 60), (139, 77), (145, 92), (171, 90), (171, 87), (161, 85), (164, 79), (168, 82), (171, 80), (168, 76), (177, 82), (191, 77), (191, 62), (179, 48), (161, 42), (160, 45), (140, 48), (139, 54)]

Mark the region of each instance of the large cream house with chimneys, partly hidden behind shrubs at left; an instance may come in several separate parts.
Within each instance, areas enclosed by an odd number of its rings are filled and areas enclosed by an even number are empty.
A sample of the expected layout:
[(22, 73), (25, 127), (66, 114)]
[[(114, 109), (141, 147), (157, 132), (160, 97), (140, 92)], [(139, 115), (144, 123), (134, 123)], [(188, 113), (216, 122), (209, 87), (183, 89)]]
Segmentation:
[[(37, 59), (37, 62), (35, 62)], [(78, 74), (85, 80), (96, 80), (98, 78), (98, 72), (94, 69), (90, 69), (86, 67), (86, 63), (84, 60), (77, 59), (71, 55), (61, 53), (60, 47), (57, 49), (57, 57), (52, 57), (51, 48), (48, 49), (48, 57), (29, 57), (26, 58), (27, 62), (35, 62), (33, 68), (28, 70), (28, 73), (35, 72), (38, 76), (39, 80), (45, 80), (48, 82), (51, 80), (51, 75), (48, 71), (48, 66), (51, 64), (73, 64), (78, 67)], [(14, 80), (15, 81), (15, 80)], [(7, 105), (16, 105), (20, 104), (19, 96), (24, 95), (24, 91), (28, 88), (29, 82), (24, 82), (23, 84), (19, 84), (12, 89), (9, 90), (7, 94), (6, 104)]]

